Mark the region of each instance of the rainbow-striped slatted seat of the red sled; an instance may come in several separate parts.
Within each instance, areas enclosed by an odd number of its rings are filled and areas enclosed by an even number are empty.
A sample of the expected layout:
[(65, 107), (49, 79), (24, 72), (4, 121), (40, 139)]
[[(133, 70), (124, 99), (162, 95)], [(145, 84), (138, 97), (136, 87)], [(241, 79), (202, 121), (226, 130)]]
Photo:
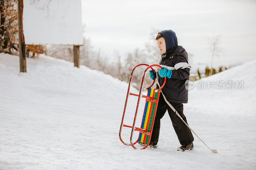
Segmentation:
[[(149, 88), (147, 96), (153, 97), (153, 99), (157, 100), (158, 92), (155, 92), (155, 90), (156, 89)], [(141, 127), (140, 127), (141, 129), (145, 129), (147, 132), (150, 132), (152, 122), (153, 122), (153, 117), (155, 114), (155, 109), (156, 109), (156, 102), (146, 101), (142, 122), (141, 122)], [(149, 139), (149, 135), (140, 133), (139, 142), (143, 144), (148, 144), (148, 139)]]

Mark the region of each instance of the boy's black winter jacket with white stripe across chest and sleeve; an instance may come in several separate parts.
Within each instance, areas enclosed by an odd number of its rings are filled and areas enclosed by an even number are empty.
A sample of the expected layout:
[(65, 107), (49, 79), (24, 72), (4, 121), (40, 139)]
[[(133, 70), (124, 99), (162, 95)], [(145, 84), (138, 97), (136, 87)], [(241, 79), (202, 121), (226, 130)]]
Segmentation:
[[(162, 54), (160, 63), (167, 70), (172, 70), (172, 77), (166, 78), (166, 83), (162, 89), (169, 102), (188, 103), (188, 90), (185, 88), (189, 79), (190, 66), (188, 64), (188, 53), (177, 46)], [(187, 81), (187, 82), (186, 82)], [(164, 78), (158, 76), (158, 82), (162, 86)]]

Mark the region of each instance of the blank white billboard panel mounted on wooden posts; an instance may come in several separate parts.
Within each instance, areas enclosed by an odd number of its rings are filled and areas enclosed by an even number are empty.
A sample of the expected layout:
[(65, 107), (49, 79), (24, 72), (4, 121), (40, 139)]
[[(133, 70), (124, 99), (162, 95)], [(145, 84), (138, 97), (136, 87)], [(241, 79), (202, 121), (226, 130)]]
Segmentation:
[(23, 0), (25, 44), (82, 45), (81, 0)]

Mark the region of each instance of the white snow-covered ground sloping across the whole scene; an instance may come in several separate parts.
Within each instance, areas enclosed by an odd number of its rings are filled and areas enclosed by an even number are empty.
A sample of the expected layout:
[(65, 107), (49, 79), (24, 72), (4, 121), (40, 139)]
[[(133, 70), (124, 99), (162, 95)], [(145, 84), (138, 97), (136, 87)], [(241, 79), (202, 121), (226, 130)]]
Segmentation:
[[(44, 55), (27, 58), (28, 72), (19, 73), (18, 56), (1, 53), (0, 169), (255, 169), (255, 65), (198, 80), (189, 91), (188, 123), (218, 153), (195, 135), (194, 150), (176, 151), (180, 144), (168, 114), (158, 148), (134, 150), (118, 137), (126, 83)], [(216, 86), (220, 80), (231, 89)], [(244, 81), (242, 89), (228, 80)], [(135, 105), (130, 96), (125, 124), (132, 124)], [(123, 130), (127, 142), (130, 130)]]

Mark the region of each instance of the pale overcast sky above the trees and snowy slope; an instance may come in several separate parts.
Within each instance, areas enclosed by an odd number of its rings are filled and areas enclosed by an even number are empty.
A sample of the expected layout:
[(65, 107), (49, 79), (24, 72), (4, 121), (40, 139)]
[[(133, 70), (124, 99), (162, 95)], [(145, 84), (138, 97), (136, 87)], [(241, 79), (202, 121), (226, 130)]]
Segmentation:
[(145, 48), (152, 30), (171, 29), (193, 63), (210, 63), (208, 38), (221, 35), (224, 54), (214, 65), (228, 66), (256, 59), (255, 9), (255, 0), (82, 0), (82, 22), (93, 48), (109, 57)]

